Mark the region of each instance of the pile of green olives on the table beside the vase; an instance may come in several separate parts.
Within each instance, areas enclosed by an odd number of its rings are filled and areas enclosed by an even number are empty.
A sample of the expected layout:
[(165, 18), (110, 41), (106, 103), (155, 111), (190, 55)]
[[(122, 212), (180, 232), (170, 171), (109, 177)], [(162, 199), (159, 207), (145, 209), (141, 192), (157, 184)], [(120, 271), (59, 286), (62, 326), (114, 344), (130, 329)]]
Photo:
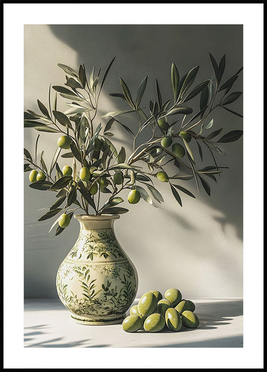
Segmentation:
[(198, 317), (194, 314), (195, 304), (182, 299), (178, 289), (167, 289), (164, 297), (159, 291), (144, 293), (138, 304), (131, 307), (130, 315), (123, 320), (122, 329), (136, 332), (144, 327), (145, 331), (154, 333), (166, 325), (171, 331), (178, 332), (182, 325), (187, 328), (199, 325)]

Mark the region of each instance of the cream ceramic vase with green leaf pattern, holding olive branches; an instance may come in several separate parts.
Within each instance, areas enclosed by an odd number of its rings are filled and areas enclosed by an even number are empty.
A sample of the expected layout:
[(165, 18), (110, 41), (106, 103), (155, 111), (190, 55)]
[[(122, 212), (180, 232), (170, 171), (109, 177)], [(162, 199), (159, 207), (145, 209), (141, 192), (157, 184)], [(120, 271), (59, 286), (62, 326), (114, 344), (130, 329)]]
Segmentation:
[(120, 216), (74, 217), (80, 234), (59, 267), (58, 295), (78, 323), (120, 323), (138, 286), (136, 269), (114, 234)]

